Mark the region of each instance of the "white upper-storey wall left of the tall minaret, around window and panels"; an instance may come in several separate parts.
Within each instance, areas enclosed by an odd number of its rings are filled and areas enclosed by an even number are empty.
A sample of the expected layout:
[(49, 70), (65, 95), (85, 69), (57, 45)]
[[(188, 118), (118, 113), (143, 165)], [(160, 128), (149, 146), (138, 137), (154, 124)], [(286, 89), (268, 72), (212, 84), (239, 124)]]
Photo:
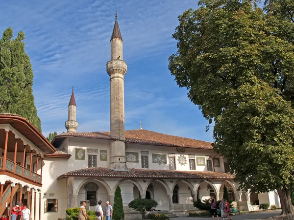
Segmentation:
[[(75, 148), (85, 149), (85, 160), (75, 159)], [(98, 150), (107, 150), (107, 161), (100, 161), (99, 154), (97, 155), (98, 167), (108, 167), (110, 159), (110, 141), (95, 139), (95, 138), (69, 138), (69, 150), (68, 153), (71, 154), (71, 158), (68, 160), (68, 171), (79, 170), (88, 168), (88, 153), (87, 148), (93, 148)], [(99, 151), (98, 151), (99, 152)], [(93, 154), (93, 153), (91, 153)]]

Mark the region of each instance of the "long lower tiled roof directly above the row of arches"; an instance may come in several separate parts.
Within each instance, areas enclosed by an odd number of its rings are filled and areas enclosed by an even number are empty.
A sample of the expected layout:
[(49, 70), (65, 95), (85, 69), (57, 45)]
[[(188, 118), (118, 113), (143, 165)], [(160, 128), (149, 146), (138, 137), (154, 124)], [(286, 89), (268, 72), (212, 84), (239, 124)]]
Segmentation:
[(235, 176), (226, 173), (217, 172), (198, 172), (198, 171), (175, 171), (175, 170), (141, 170), (130, 169), (127, 171), (113, 171), (108, 168), (86, 168), (75, 170), (58, 176), (61, 179), (68, 176), (85, 176), (85, 177), (109, 177), (109, 178), (164, 178), (164, 179), (233, 179)]

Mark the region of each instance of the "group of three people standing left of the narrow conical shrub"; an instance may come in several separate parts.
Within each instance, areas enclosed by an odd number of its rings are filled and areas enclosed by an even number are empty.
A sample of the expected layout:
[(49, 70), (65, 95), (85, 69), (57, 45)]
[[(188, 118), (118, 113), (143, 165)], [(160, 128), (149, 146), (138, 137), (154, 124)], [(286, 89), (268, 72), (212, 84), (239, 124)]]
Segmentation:
[[(98, 205), (95, 206), (95, 215), (97, 220), (103, 220), (103, 216), (106, 217), (106, 220), (110, 220), (112, 218), (112, 206), (109, 204), (109, 201), (106, 202), (105, 211), (102, 209), (102, 201), (98, 201)], [(86, 220), (88, 219), (88, 215), (86, 213), (86, 202), (83, 202), (82, 206), (79, 208), (78, 220)]]

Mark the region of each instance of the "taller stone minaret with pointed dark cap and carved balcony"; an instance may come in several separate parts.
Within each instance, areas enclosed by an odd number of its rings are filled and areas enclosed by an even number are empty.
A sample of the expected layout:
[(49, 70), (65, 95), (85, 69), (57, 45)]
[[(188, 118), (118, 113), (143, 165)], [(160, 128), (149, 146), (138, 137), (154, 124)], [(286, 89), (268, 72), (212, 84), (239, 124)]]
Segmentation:
[(127, 71), (123, 61), (123, 38), (121, 35), (118, 14), (111, 35), (111, 59), (107, 62), (107, 73), (110, 76), (110, 135), (117, 140), (111, 142), (110, 164), (112, 170), (127, 170), (125, 164), (124, 144), (124, 94), (123, 76)]

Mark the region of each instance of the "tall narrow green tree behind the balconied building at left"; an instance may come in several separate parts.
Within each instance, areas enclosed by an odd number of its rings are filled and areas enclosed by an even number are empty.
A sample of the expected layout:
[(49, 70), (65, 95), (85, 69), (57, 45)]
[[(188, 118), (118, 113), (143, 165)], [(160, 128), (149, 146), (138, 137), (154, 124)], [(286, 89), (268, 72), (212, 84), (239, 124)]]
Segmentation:
[(24, 32), (15, 39), (11, 27), (0, 39), (0, 112), (25, 117), (41, 132), (33, 95), (33, 70), (25, 53)]

